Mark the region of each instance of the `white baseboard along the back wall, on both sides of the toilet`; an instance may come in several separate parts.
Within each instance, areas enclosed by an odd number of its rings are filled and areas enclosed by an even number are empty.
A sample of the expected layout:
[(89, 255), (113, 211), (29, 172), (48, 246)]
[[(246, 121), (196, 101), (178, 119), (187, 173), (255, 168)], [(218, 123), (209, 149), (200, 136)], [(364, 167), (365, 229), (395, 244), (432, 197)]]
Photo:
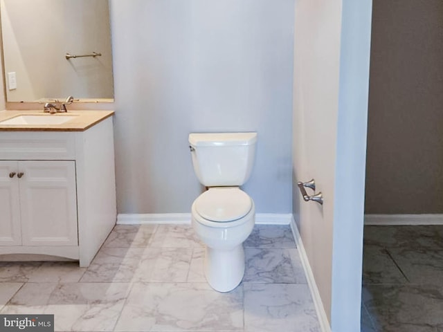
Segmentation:
[[(292, 214), (278, 213), (257, 213), (255, 214), (255, 224), (257, 225), (289, 225)], [(124, 214), (117, 215), (118, 225), (142, 225), (149, 223), (163, 224), (190, 224), (190, 213), (145, 213), (145, 214)]]

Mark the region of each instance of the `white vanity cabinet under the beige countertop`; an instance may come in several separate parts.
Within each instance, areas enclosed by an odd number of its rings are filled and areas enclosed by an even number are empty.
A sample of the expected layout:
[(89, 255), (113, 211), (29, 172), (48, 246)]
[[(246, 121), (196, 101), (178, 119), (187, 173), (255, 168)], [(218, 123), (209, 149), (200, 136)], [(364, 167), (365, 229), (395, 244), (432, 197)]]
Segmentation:
[(115, 223), (111, 117), (84, 131), (0, 130), (0, 255), (89, 266)]

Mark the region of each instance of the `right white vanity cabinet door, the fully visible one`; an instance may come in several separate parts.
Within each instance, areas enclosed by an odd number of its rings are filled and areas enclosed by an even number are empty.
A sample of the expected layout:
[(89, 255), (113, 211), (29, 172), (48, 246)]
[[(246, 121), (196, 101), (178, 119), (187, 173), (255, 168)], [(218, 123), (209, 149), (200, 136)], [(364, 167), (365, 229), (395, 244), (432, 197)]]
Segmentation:
[(20, 161), (23, 246), (77, 246), (74, 161)]

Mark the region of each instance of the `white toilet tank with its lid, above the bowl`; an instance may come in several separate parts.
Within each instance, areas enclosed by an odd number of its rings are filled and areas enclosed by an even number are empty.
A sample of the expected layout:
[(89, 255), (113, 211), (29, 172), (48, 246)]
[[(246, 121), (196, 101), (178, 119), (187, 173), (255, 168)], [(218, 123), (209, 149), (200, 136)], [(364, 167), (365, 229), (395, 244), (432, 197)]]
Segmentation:
[(192, 165), (206, 187), (240, 186), (251, 175), (257, 133), (190, 133)]

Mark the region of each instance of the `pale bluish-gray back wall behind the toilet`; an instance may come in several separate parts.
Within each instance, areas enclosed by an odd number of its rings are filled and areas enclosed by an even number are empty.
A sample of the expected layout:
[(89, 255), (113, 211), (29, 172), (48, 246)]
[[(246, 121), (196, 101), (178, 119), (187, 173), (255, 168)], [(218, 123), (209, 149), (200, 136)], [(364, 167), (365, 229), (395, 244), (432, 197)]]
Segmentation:
[(257, 131), (244, 186), (291, 212), (293, 0), (111, 1), (119, 213), (190, 212), (193, 131)]

